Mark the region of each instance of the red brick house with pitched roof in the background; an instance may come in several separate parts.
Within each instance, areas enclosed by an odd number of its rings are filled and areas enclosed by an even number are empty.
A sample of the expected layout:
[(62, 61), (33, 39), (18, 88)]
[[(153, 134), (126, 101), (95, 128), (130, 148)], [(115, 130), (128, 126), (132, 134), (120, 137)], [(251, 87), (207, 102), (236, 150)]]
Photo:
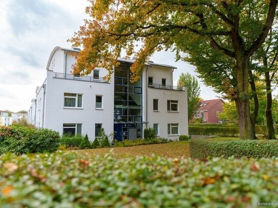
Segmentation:
[(206, 123), (222, 123), (218, 117), (223, 111), (223, 103), (222, 99), (202, 100), (199, 109), (194, 114), (194, 119), (202, 119)]

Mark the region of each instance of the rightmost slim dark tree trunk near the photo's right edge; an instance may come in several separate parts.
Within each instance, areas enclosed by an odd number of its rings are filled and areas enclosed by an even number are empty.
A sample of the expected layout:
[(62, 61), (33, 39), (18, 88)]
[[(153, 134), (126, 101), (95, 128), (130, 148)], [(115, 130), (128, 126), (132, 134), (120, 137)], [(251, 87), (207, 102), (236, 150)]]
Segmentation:
[(266, 83), (266, 109), (265, 109), (265, 117), (266, 117), (266, 132), (268, 140), (275, 140), (275, 132), (273, 127), (273, 119), (272, 119), (272, 93), (271, 93), (271, 80), (269, 77), (269, 72), (265, 72), (265, 83)]

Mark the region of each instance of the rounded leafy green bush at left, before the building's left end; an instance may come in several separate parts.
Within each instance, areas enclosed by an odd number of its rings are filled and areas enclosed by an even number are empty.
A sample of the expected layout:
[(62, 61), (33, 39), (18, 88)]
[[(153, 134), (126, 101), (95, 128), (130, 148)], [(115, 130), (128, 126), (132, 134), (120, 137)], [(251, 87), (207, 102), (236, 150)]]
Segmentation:
[(59, 133), (50, 129), (21, 126), (0, 128), (0, 154), (53, 152), (59, 147)]

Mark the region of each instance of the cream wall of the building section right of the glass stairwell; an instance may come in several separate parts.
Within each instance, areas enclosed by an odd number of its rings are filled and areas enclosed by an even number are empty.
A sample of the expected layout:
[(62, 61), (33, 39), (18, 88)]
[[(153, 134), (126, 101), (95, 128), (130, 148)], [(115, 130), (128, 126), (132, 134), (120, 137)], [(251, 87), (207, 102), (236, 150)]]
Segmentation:
[[(153, 77), (154, 84), (161, 84), (161, 79), (166, 78), (166, 85), (171, 85), (172, 71), (172, 68), (152, 66), (143, 72), (143, 121), (147, 122), (144, 128), (153, 128), (154, 124), (158, 124), (160, 137), (168, 138), (168, 140), (178, 140), (179, 135), (188, 135), (186, 88), (185, 90), (168, 90), (147, 87), (148, 77)], [(159, 100), (159, 111), (153, 111), (153, 99)], [(167, 100), (178, 101), (178, 112), (167, 111)], [(179, 124), (179, 134), (168, 135), (168, 124), (176, 123)]]

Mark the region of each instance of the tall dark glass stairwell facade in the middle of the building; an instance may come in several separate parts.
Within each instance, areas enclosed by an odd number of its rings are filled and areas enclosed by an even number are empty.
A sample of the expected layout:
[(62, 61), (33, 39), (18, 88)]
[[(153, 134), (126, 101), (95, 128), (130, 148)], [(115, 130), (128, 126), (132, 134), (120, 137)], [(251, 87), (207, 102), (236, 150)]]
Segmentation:
[(118, 141), (142, 137), (142, 81), (130, 82), (130, 63), (115, 67), (114, 138)]

